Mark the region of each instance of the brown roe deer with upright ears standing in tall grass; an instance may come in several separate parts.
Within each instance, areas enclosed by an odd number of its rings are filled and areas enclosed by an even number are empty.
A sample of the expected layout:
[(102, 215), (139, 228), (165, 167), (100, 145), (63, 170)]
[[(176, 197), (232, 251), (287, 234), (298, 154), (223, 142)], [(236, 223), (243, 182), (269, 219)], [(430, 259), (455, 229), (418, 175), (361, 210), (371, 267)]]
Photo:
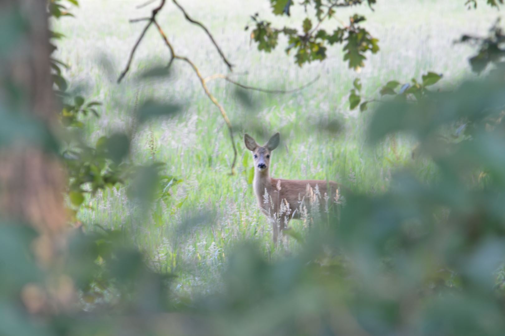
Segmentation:
[(244, 135), (245, 147), (254, 157), (253, 189), (261, 210), (272, 221), (274, 243), (277, 242), (279, 231), (286, 229), (289, 220), (300, 218), (301, 213), (307, 210), (304, 202), (308, 197), (313, 198), (317, 207), (322, 207), (325, 202), (328, 205), (328, 200), (337, 200), (339, 188), (332, 181), (272, 179), (269, 174), (270, 156), (279, 145), (279, 140), (280, 134), (276, 133), (266, 145), (260, 146), (250, 135)]

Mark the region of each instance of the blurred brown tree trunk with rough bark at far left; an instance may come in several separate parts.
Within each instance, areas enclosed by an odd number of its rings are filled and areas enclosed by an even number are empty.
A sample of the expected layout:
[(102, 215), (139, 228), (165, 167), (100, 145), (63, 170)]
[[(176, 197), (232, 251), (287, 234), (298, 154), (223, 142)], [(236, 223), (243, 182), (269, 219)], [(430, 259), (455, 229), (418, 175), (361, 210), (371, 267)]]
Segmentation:
[[(0, 0), (1, 16), (18, 18), (22, 27), (15, 42), (0, 53), (0, 107), (7, 113), (26, 113), (52, 129), (57, 104), (46, 6), (44, 0)], [(12, 94), (13, 88), (21, 98)], [(66, 226), (65, 180), (57, 156), (42, 145), (20, 140), (1, 146), (1, 216), (28, 223), (47, 237), (60, 235)]]

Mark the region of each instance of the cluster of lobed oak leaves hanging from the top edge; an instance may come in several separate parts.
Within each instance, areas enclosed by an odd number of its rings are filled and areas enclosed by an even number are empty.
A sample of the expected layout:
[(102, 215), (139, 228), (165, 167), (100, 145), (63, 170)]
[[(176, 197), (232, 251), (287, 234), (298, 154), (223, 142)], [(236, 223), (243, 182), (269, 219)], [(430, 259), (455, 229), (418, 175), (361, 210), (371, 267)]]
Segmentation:
[[(323, 61), (326, 59), (326, 50), (333, 44), (343, 44), (344, 61), (347, 61), (349, 68), (359, 69), (364, 66), (366, 60), (365, 53), (379, 51), (378, 39), (372, 37), (370, 33), (359, 24), (365, 21), (365, 17), (355, 14), (349, 18), (348, 24), (337, 21), (336, 14), (339, 8), (362, 5), (364, 3), (372, 7), (375, 0), (304, 0), (297, 6), (302, 6), (307, 13), (307, 17), (301, 23), (301, 30), (294, 27), (275, 28), (270, 21), (262, 20), (259, 13), (251, 16), (252, 28), (251, 40), (258, 43), (258, 49), (266, 52), (272, 51), (277, 44), (279, 35), (285, 35), (288, 39), (286, 53), (294, 50), (295, 63), (302, 66), (313, 61)], [(292, 0), (271, 0), (272, 13), (278, 16), (290, 16), (291, 7), (295, 6)], [(315, 12), (315, 17), (309, 15), (310, 11)], [(322, 22), (327, 20), (341, 25), (332, 32), (327, 32), (320, 28)], [(249, 26), (245, 27), (246, 30)]]

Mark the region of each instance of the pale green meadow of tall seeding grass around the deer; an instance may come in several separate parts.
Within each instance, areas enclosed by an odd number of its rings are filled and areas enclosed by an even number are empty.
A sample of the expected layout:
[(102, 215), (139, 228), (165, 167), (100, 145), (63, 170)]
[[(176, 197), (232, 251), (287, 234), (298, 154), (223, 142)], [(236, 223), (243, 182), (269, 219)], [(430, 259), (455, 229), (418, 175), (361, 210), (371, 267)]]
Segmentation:
[[(131, 152), (138, 163), (166, 163), (164, 173), (183, 182), (173, 188), (170, 201), (156, 201), (147, 215), (127, 199), (126, 187), (121, 187), (87, 199), (89, 208), (82, 208), (78, 218), (88, 230), (96, 230), (94, 224), (101, 223), (131, 232), (153, 267), (179, 273), (175, 286), (189, 295), (219, 289), (227, 255), (241, 240), (255, 240), (272, 258), (297, 248), (292, 239), (281, 247), (272, 244), (271, 228), (248, 183), (252, 160), (243, 145), (244, 131), (258, 141), (281, 133), (281, 146), (274, 152), (271, 167), (274, 177), (335, 180), (365, 193), (388, 188), (391, 174), (406, 165), (414, 166), (421, 178), (430, 179), (433, 166), (422, 158), (411, 159), (413, 143), (409, 139), (399, 136), (378, 148), (366, 145), (367, 118), (372, 111), (350, 111), (349, 89), (360, 78), (363, 95), (377, 98), (381, 84), (393, 79), (408, 82), (427, 71), (443, 73), (442, 85), (455, 84), (470, 75), (467, 59), (472, 49), (453, 41), (463, 33), (484, 34), (489, 18), (498, 16), (485, 6), (467, 11), (463, 0), (379, 1), (374, 12), (363, 6), (358, 11), (366, 15), (365, 26), (379, 38), (381, 50), (369, 55), (365, 68), (356, 73), (347, 69), (339, 46), (329, 50), (323, 63), (304, 68), (286, 56), (283, 42), (273, 53), (259, 52), (243, 28), (255, 12), (271, 17), (267, 0), (181, 2), (195, 19), (207, 24), (236, 66), (233, 76), (238, 81), (290, 89), (321, 76), (310, 87), (292, 94), (250, 92), (249, 104), (237, 99), (233, 85), (219, 79), (210, 83), (237, 128), (237, 174), (229, 176), (233, 153), (227, 129), (189, 66), (176, 61), (170, 78), (138, 79), (142, 71), (169, 60), (168, 49), (154, 28), (140, 44), (129, 74), (116, 84), (143, 27), (143, 23), (130, 24), (128, 19), (144, 17), (153, 7), (135, 9), (140, 3), (82, 1), (81, 7), (72, 11), (75, 19), (57, 22), (56, 30), (67, 38), (56, 56), (70, 65), (66, 74), (70, 90), (104, 103), (99, 119), (86, 119), (85, 137), (90, 142), (129, 129), (132, 113), (143, 101), (183, 104), (184, 113), (155, 121), (137, 133)], [(350, 13), (345, 10), (337, 16), (346, 21)], [(294, 11), (289, 22), (299, 23), (303, 15)], [(287, 22), (284, 18), (274, 20), (279, 26)], [(191, 58), (204, 76), (226, 73), (208, 37), (186, 22), (172, 4), (165, 6), (159, 21), (176, 52)], [(330, 122), (343, 127), (338, 132), (319, 128)], [(181, 226), (195, 221), (198, 225), (181, 231)], [(293, 221), (292, 226), (299, 232), (305, 230), (303, 221)]]

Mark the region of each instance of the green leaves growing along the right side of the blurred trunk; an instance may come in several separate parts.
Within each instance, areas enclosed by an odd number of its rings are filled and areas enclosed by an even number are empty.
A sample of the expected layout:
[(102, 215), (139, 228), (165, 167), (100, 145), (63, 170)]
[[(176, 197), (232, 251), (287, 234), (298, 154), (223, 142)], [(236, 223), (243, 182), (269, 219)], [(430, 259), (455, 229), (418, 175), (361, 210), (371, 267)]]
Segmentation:
[[(68, 5), (79, 6), (79, 3), (77, 0), (51, 0), (48, 4), (49, 17), (55, 17), (56, 19), (64, 16), (73, 17), (67, 8)], [(64, 37), (65, 35), (62, 33), (51, 32), (53, 42)], [(53, 52), (57, 50), (55, 44), (52, 43), (51, 46)], [(129, 135), (116, 133), (103, 136), (96, 141), (94, 146), (81, 139), (79, 130), (84, 127), (83, 118), (89, 115), (99, 118), (97, 108), (102, 103), (86, 101), (82, 96), (72, 97), (67, 92), (68, 84), (62, 73), (62, 68), (67, 69), (68, 65), (52, 58), (51, 68), (56, 88), (55, 92), (62, 100), (63, 105), (59, 115), (62, 126), (64, 126), (62, 157), (69, 178), (68, 195), (74, 209), (83, 204), (87, 193), (94, 194), (98, 190), (115, 187), (118, 184), (125, 183), (128, 179), (135, 181), (142, 179), (142, 172), (148, 170), (149, 167), (136, 166), (127, 159), (130, 147)], [(165, 70), (163, 75), (166, 74)], [(157, 69), (154, 69), (144, 74), (143, 78), (152, 77), (153, 75), (160, 76), (161, 74)], [(179, 105), (166, 105), (148, 101), (136, 111), (137, 121), (135, 125), (141, 126), (153, 118), (170, 117), (178, 113), (180, 109)], [(153, 183), (157, 185), (157, 188), (150, 188), (148, 183), (142, 184), (142, 188), (136, 188), (135, 193), (142, 194), (140, 199), (146, 198), (148, 193), (156, 193), (166, 201), (170, 197), (170, 187), (179, 180), (172, 176), (159, 176), (162, 173), (162, 164), (157, 163), (154, 166), (157, 168), (150, 171), (150, 178), (155, 181)], [(160, 188), (162, 191), (158, 191)]]

